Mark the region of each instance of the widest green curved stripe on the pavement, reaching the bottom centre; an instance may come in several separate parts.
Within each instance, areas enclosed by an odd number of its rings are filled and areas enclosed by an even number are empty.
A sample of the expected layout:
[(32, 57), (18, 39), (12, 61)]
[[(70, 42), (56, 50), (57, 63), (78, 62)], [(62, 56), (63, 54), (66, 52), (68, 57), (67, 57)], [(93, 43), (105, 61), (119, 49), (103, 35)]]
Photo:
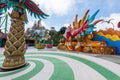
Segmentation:
[(74, 80), (70, 66), (62, 60), (46, 56), (27, 56), (27, 58), (42, 58), (54, 64), (54, 72), (49, 80)]

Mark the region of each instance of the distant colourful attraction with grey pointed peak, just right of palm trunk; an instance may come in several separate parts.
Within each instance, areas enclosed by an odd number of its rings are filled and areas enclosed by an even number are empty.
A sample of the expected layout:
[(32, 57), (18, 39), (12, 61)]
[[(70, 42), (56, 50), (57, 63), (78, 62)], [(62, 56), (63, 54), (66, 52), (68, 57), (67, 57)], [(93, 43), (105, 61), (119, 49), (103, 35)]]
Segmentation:
[(52, 48), (49, 30), (42, 26), (41, 20), (35, 21), (32, 28), (28, 28), (25, 34), (26, 44), (37, 49)]

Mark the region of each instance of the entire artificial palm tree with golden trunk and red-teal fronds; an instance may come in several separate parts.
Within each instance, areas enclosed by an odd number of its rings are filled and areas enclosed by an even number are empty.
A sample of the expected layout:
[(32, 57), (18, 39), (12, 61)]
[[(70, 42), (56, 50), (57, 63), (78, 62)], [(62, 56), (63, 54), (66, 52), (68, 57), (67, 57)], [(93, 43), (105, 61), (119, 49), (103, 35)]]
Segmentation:
[(6, 12), (10, 8), (13, 8), (11, 14), (9, 13), (11, 26), (5, 44), (5, 59), (1, 67), (8, 70), (26, 64), (24, 57), (26, 52), (24, 38), (24, 24), (27, 22), (26, 9), (31, 16), (34, 14), (34, 17), (38, 19), (48, 16), (31, 0), (0, 0), (0, 12)]

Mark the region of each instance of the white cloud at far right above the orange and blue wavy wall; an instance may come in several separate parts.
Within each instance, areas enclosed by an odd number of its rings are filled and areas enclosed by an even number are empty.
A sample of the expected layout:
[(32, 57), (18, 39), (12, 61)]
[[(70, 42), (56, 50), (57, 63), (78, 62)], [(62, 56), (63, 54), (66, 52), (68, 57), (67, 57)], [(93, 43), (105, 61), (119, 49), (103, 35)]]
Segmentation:
[[(100, 19), (104, 19), (105, 21), (108, 21), (110, 19), (113, 19), (113, 20), (111, 20), (111, 23), (109, 24), (106, 22), (98, 23), (96, 25), (97, 30), (100, 30), (100, 29), (105, 30), (105, 29), (113, 28), (113, 27), (115, 30), (119, 30), (117, 25), (118, 25), (118, 22), (120, 22), (120, 13), (113, 13), (109, 17), (101, 17)], [(112, 25), (112, 23), (114, 26)]]

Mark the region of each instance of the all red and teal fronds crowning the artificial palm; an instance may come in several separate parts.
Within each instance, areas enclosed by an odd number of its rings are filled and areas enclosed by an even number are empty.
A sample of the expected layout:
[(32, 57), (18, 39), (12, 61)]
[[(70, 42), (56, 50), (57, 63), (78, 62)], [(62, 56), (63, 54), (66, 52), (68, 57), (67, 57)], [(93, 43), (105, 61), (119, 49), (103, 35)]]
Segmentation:
[[(28, 10), (30, 15), (38, 19), (45, 19), (48, 15), (42, 12), (42, 10), (32, 0), (0, 0), (0, 12), (7, 12), (10, 8), (14, 8), (16, 5), (20, 5)], [(19, 13), (23, 13), (20, 8), (15, 9)]]

